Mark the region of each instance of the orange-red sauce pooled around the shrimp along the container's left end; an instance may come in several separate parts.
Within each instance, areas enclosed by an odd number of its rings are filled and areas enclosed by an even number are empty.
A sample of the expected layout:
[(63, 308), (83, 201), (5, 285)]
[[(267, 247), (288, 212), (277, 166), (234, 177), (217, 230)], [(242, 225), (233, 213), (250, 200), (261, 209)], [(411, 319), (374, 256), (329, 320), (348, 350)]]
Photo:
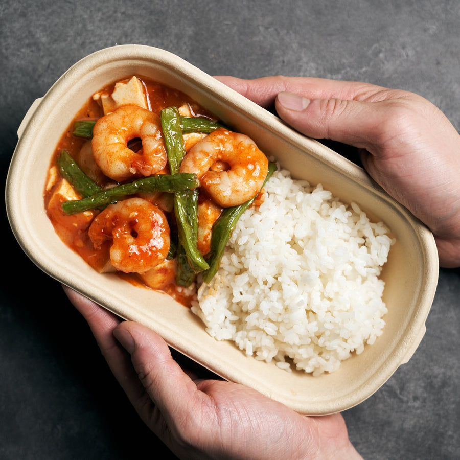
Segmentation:
[[(200, 107), (195, 101), (183, 94), (181, 91), (154, 82), (147, 78), (139, 76), (138, 78), (142, 81), (146, 90), (149, 100), (149, 108), (158, 114), (158, 116), (163, 108), (170, 106), (180, 107), (188, 104), (193, 116), (215, 119), (209, 111)], [(115, 83), (116, 82), (113, 82), (107, 85), (102, 88), (101, 91), (107, 91), (108, 94), (111, 94)], [(105, 177), (100, 170), (95, 170), (94, 165), (90, 171), (85, 170), (85, 165), (80, 164), (78, 158), (81, 157), (83, 149), (89, 148), (90, 141), (76, 137), (72, 134), (75, 121), (85, 119), (95, 120), (103, 115), (102, 106), (92, 97), (89, 98), (80, 111), (75, 114), (74, 119), (66, 131), (62, 134), (61, 139), (59, 140), (59, 143), (53, 153), (48, 183), (43, 195), (45, 210), (47, 211), (47, 215), (59, 238), (64, 244), (79, 254), (91, 267), (99, 272), (113, 271), (109, 258), (110, 241), (107, 241), (102, 246), (95, 248), (88, 237), (87, 230), (94, 217), (99, 213), (97, 210), (86, 211), (84, 213), (70, 216), (67, 216), (62, 211), (62, 202), (70, 199), (68, 198), (68, 193), (75, 192), (69, 192), (68, 183), (66, 183), (65, 180), (62, 180), (59, 176), (59, 173), (57, 172), (57, 158), (60, 152), (65, 149), (75, 159), (77, 164), (79, 164), (80, 168), (83, 169), (83, 171), (88, 174), (91, 179), (98, 183), (99, 186), (106, 187), (107, 185), (118, 185), (117, 182)], [(130, 180), (134, 180), (135, 178), (136, 177)], [(72, 199), (79, 198), (81, 198), (81, 196), (75, 195)], [(107, 269), (107, 267), (109, 268)], [(118, 275), (121, 279), (130, 282), (131, 284), (146, 287), (136, 273), (118, 272)], [(177, 287), (174, 282), (163, 286), (161, 290), (167, 292), (183, 305), (189, 305), (190, 303), (190, 291)]]

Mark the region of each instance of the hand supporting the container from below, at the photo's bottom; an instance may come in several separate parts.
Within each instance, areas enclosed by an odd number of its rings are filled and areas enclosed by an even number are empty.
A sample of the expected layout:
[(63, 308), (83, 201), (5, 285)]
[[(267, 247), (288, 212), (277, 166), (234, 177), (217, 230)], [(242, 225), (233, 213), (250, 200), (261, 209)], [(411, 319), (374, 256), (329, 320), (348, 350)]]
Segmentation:
[(156, 333), (64, 290), (137, 413), (179, 458), (361, 458), (340, 414), (305, 417), (243, 385), (182, 370)]

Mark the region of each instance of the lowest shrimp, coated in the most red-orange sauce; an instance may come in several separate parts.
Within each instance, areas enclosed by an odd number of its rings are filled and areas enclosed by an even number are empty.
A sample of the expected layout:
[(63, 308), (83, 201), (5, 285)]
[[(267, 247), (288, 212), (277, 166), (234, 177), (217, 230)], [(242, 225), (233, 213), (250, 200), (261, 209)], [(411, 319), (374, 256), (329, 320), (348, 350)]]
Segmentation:
[(165, 214), (143, 198), (110, 204), (88, 229), (95, 248), (110, 241), (110, 261), (125, 273), (144, 273), (164, 262), (170, 248)]

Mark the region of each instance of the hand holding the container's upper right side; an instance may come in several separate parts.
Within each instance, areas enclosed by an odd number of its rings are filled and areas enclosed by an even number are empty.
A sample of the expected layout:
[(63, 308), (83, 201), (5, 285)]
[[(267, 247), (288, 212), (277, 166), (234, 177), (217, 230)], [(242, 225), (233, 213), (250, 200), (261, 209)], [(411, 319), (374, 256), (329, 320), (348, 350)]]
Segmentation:
[(432, 231), (440, 265), (460, 266), (460, 135), (421, 96), (309, 77), (216, 77), (315, 139), (360, 149), (371, 177)]

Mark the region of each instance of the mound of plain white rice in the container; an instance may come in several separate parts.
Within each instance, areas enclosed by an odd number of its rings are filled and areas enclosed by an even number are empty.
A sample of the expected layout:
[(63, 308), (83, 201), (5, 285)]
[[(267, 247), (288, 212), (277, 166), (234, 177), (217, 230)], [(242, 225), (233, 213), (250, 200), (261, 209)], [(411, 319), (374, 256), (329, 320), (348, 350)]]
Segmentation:
[(217, 340), (291, 371), (336, 371), (382, 334), (379, 280), (392, 240), (383, 223), (318, 185), (276, 171), (247, 210), (192, 311)]

